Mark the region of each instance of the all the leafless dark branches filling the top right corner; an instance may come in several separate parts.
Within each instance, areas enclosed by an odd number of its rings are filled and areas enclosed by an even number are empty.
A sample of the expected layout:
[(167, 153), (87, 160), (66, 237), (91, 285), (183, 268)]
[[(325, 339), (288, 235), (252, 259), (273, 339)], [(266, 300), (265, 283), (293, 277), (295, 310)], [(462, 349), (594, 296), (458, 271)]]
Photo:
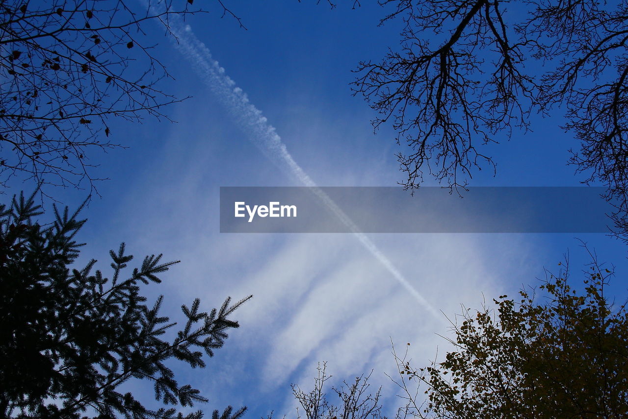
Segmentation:
[[(354, 93), (390, 122), (413, 189), (424, 174), (464, 187), (494, 169), (482, 144), (526, 130), (531, 112), (566, 109), (570, 163), (628, 210), (628, 4), (587, 0), (380, 0), (401, 18), (401, 48), (359, 64)], [(512, 10), (507, 10), (510, 6)], [(438, 42), (428, 38), (439, 39)]]

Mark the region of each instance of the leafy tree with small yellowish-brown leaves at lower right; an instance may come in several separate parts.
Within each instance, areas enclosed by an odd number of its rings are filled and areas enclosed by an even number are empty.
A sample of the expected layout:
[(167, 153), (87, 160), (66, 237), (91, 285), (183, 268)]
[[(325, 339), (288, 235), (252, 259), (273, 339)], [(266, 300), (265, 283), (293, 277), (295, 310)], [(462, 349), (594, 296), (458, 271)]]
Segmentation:
[(593, 259), (578, 287), (561, 265), (538, 290), (465, 309), (452, 321), (453, 349), (444, 360), (416, 368), (407, 351), (395, 353), (401, 415), (624, 418), (628, 313), (604, 294), (613, 272)]

